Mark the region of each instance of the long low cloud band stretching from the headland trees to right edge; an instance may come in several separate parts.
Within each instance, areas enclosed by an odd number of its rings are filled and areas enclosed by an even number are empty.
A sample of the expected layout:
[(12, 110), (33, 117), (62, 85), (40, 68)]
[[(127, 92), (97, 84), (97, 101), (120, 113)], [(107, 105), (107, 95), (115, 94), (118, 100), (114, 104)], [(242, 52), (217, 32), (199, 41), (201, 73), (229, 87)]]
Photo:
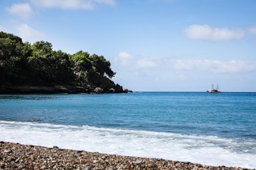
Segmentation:
[(117, 65), (129, 71), (174, 71), (182, 74), (205, 71), (208, 73), (246, 73), (256, 71), (256, 61), (211, 59), (135, 58), (127, 52), (119, 52), (114, 59)]

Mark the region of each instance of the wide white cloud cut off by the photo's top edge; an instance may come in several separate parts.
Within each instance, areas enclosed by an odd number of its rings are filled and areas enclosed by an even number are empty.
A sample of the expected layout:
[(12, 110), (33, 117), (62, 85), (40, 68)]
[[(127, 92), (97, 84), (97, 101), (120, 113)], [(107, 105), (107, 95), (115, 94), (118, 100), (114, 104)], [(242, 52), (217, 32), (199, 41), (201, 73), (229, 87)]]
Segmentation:
[(33, 5), (43, 8), (94, 9), (96, 4), (115, 5), (114, 0), (30, 0)]

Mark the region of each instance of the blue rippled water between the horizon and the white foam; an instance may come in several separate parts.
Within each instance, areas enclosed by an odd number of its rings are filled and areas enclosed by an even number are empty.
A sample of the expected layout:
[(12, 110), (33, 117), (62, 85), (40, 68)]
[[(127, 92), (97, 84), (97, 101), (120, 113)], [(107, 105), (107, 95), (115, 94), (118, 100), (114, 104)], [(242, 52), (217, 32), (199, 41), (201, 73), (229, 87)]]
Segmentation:
[(256, 139), (256, 93), (0, 95), (0, 120)]

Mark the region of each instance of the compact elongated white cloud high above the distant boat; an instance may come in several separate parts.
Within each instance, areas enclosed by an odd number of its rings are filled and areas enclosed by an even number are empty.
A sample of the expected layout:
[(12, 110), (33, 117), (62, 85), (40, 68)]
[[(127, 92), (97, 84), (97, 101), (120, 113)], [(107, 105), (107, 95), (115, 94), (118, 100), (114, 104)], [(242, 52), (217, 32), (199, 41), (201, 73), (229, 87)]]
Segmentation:
[(190, 25), (184, 29), (184, 35), (190, 39), (230, 41), (242, 39), (245, 36), (245, 31), (243, 29), (211, 28), (209, 25)]

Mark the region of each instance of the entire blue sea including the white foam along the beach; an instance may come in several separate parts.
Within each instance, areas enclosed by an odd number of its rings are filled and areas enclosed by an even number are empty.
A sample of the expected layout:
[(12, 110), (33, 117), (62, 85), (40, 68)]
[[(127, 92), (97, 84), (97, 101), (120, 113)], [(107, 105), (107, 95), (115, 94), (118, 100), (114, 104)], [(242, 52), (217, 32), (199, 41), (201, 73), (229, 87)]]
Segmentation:
[(0, 95), (0, 141), (256, 168), (256, 93)]

